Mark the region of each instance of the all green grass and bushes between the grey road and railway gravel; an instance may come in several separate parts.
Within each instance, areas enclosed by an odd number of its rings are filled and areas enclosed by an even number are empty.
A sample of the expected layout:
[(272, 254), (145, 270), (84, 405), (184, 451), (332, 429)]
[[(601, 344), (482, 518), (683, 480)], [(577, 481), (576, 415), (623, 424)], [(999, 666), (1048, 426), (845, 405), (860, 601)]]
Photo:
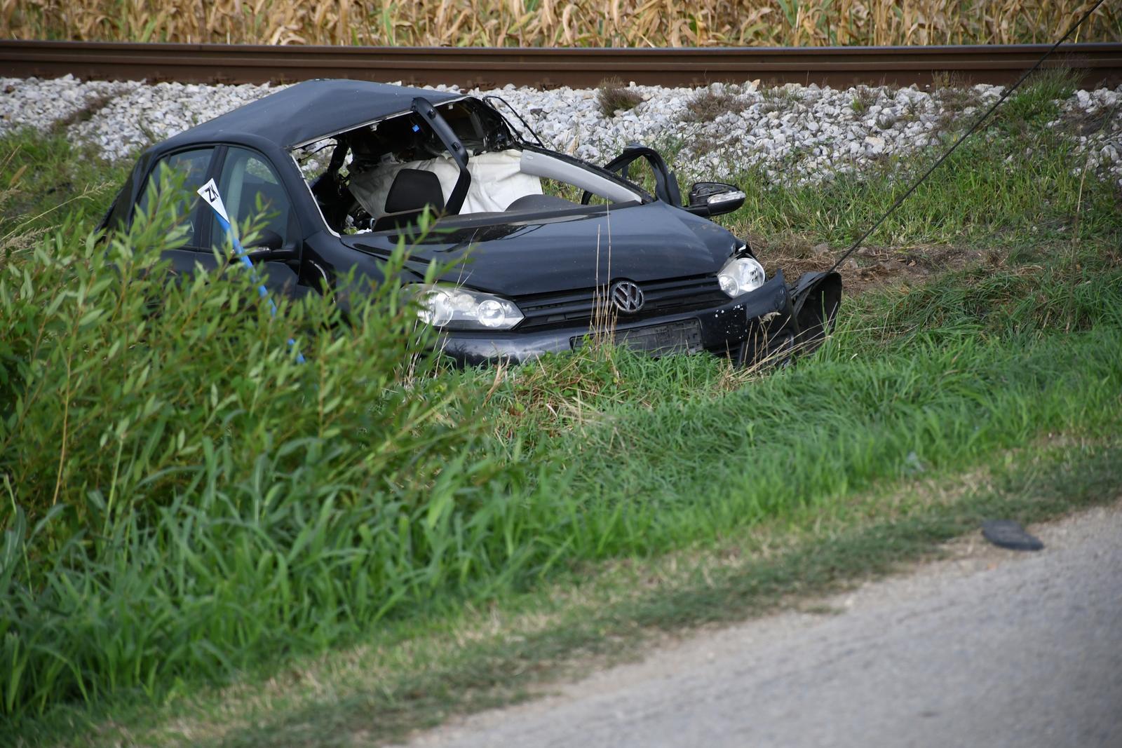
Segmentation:
[[(1030, 119), (876, 238), (987, 260), (847, 298), (821, 351), (771, 373), (599, 347), (433, 369), (389, 286), (340, 325), (315, 299), (270, 322), (236, 269), (137, 277), (174, 242), (171, 206), (110, 247), (119, 277), (85, 233), (123, 172), (7, 138), (6, 175), (39, 168), (2, 181), (0, 730), (331, 745), (366, 714), (393, 735), (652, 629), (882, 573), (981, 512), (1111, 498), (1116, 187), (1073, 176), (1070, 139)], [(752, 184), (732, 220), (844, 243), (914, 168)], [(978, 472), (993, 490), (922, 498)], [(1040, 474), (1056, 490), (1015, 488)], [(185, 714), (192, 739), (167, 727)]]

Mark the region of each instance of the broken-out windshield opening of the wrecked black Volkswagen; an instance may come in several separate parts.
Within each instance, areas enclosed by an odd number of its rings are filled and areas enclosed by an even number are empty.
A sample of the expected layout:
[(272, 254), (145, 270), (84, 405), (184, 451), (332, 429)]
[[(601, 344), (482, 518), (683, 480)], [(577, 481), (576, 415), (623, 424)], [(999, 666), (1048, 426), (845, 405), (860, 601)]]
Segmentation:
[(541, 148), (531, 153), (506, 120), (476, 99), (435, 108), (417, 101), (414, 109), (436, 117), (396, 114), (294, 151), (335, 233), (398, 231), (414, 227), (425, 211), (480, 222), (573, 212), (582, 207), (574, 197), (586, 191), (596, 203), (642, 198), (560, 155)]

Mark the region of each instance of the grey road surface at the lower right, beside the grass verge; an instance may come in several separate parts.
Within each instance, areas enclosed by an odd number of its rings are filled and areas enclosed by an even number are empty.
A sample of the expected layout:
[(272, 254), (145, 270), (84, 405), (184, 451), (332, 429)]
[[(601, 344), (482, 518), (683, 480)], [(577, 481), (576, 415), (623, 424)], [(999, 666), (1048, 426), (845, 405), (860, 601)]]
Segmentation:
[(1031, 529), (411, 745), (1120, 747), (1122, 504)]

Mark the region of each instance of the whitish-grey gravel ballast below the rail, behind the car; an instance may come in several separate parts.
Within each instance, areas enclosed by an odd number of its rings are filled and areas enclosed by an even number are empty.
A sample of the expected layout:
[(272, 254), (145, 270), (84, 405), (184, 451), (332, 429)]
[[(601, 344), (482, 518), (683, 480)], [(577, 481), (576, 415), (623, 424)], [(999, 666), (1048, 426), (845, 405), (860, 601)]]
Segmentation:
[[(0, 79), (0, 135), (20, 127), (63, 128), (72, 140), (93, 144), (105, 158), (127, 160), (151, 142), (280, 87)], [(548, 146), (595, 163), (640, 141), (678, 151), (675, 168), (683, 177), (733, 178), (757, 167), (774, 183), (802, 184), (928, 148), (1002, 91), (985, 84), (934, 91), (794, 84), (769, 89), (755, 83), (707, 90), (628, 87), (642, 101), (607, 116), (596, 89), (508, 85), (466, 93), (502, 95)], [(1122, 185), (1122, 86), (1076, 91), (1059, 103), (1060, 116), (1051, 126), (1092, 122), (1083, 133), (1073, 130), (1078, 153), (1087, 167)]]

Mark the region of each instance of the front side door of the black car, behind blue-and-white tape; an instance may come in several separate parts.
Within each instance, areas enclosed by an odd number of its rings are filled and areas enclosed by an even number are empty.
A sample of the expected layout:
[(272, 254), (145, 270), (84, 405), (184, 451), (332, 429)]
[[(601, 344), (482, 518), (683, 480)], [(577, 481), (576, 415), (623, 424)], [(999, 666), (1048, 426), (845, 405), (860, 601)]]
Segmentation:
[[(231, 231), (247, 236), (251, 222), (257, 222), (259, 236), (252, 244), (242, 243), (250, 253), (274, 250), (285, 255), (283, 260), (258, 261), (256, 265), (265, 277), (269, 290), (288, 296), (302, 296), (310, 288), (300, 280), (300, 258), (303, 233), (292, 200), (277, 170), (268, 159), (256, 150), (228, 146), (221, 154), (221, 167), (215, 183), (226, 212), (230, 216)], [(231, 237), (219, 221), (210, 223), (210, 244), (232, 256)]]

